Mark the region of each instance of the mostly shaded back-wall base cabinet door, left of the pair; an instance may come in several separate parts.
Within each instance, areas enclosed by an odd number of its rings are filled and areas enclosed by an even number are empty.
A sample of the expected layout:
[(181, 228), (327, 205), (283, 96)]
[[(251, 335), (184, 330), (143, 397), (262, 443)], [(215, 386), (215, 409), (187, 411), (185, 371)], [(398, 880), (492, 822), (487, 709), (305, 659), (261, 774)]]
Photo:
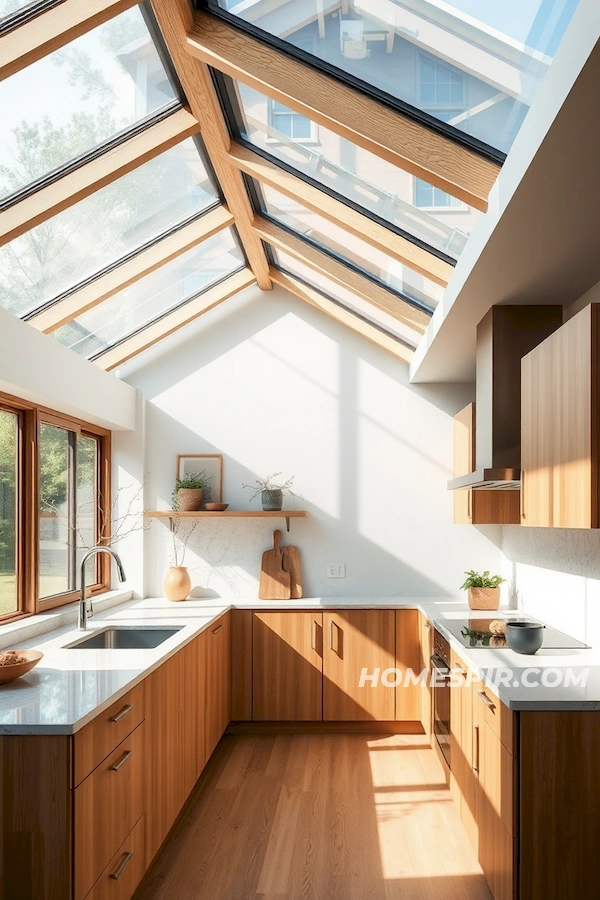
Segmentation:
[(254, 613), (252, 718), (323, 718), (323, 614)]

